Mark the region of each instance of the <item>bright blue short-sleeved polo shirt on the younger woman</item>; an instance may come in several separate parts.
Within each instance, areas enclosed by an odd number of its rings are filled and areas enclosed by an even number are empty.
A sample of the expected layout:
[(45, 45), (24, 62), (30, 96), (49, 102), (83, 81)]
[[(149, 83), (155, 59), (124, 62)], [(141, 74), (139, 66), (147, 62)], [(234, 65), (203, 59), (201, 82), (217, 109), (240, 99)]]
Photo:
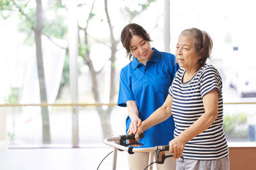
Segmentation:
[[(120, 89), (118, 106), (126, 106), (126, 101), (135, 100), (138, 106), (139, 118), (143, 121), (157, 108), (163, 105), (168, 95), (169, 86), (173, 82), (175, 72), (179, 69), (173, 54), (154, 53), (146, 66), (136, 58), (120, 72)], [(129, 116), (126, 118), (126, 132), (130, 125)], [(140, 139), (143, 147), (168, 145), (173, 139), (173, 116), (144, 131), (144, 138)]]

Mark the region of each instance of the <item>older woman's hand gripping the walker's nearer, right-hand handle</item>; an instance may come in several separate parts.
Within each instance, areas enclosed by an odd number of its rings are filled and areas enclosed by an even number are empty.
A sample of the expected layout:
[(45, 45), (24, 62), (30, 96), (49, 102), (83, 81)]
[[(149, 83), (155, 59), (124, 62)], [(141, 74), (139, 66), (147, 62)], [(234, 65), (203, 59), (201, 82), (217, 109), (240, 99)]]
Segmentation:
[(179, 159), (179, 157), (181, 157), (183, 153), (185, 141), (179, 137), (176, 137), (175, 139), (169, 142), (169, 146), (169, 151), (170, 153), (173, 153), (173, 158)]

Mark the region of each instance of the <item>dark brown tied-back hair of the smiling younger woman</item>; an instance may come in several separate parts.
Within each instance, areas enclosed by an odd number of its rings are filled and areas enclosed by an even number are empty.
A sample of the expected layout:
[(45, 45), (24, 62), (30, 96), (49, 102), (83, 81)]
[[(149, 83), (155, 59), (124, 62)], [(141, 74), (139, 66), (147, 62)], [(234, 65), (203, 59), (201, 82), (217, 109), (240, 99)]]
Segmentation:
[(130, 39), (132, 38), (133, 35), (138, 35), (146, 41), (151, 41), (146, 30), (140, 25), (136, 23), (130, 23), (126, 25), (121, 33), (121, 41), (124, 48), (126, 49), (127, 56), (129, 56), (129, 59), (134, 58), (130, 53)]

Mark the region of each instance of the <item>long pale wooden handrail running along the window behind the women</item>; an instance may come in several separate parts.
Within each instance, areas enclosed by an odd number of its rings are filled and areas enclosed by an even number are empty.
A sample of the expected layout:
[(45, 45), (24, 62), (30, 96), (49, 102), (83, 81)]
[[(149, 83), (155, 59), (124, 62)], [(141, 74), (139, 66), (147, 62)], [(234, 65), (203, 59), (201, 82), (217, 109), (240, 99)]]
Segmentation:
[[(256, 102), (224, 102), (223, 104), (256, 104)], [(58, 104), (0, 104), (0, 107), (12, 106), (117, 106), (116, 103), (58, 103)]]

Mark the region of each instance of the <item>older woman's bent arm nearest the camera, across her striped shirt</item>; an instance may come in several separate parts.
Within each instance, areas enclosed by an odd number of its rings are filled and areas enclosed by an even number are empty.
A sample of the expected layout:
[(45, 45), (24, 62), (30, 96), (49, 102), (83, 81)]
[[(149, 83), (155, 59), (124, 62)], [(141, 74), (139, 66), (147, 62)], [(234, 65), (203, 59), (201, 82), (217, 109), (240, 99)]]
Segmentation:
[(169, 151), (173, 153), (173, 158), (181, 157), (185, 143), (204, 132), (212, 125), (214, 120), (218, 117), (218, 89), (214, 88), (208, 92), (204, 98), (205, 113), (194, 122), (188, 129), (183, 131), (178, 137), (169, 142)]

